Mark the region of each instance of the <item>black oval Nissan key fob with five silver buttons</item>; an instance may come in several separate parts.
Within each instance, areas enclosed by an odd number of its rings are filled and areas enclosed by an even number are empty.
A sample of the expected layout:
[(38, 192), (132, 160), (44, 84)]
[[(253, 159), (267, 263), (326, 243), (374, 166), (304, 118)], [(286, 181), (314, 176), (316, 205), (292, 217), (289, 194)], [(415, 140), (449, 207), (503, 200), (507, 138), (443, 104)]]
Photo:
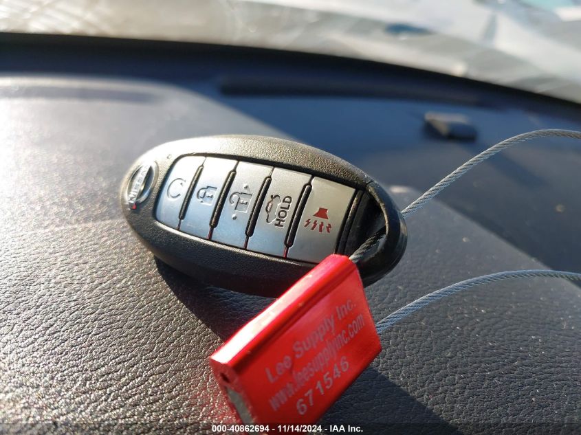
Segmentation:
[(228, 135), (162, 144), (125, 177), (124, 216), (157, 258), (208, 285), (276, 297), (329, 254), (358, 263), (368, 285), (391, 270), (406, 226), (369, 175), (311, 146)]

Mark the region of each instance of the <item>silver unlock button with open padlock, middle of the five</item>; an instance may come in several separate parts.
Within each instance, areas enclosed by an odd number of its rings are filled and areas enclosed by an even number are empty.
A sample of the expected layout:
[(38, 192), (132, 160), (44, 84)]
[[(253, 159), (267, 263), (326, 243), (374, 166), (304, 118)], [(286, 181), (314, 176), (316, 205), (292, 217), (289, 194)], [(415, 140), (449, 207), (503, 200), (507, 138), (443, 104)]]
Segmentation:
[(213, 241), (244, 247), (250, 214), (263, 182), (271, 171), (272, 166), (239, 162), (218, 225), (212, 232)]

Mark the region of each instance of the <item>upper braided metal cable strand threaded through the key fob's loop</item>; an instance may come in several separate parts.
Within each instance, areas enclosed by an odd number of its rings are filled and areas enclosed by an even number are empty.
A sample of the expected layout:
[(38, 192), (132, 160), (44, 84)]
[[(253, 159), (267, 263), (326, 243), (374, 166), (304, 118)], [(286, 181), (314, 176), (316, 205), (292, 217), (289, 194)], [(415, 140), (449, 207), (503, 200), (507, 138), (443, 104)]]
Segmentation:
[[(404, 210), (402, 210), (402, 216), (404, 218), (410, 216), (411, 214), (417, 212), (421, 207), (424, 206), (430, 199), (439, 194), (442, 190), (450, 186), (457, 179), (462, 177), (474, 166), (482, 163), (486, 159), (492, 157), (496, 153), (500, 153), (502, 150), (509, 148), (513, 145), (520, 144), (521, 142), (526, 142), (528, 140), (537, 139), (538, 137), (570, 137), (571, 139), (581, 139), (581, 132), (572, 130), (560, 130), (560, 129), (547, 129), (547, 130), (535, 130), (529, 133), (523, 133), (513, 137), (509, 137), (498, 144), (491, 146), (482, 153), (475, 155), (472, 159), (468, 160), (462, 166), (459, 166), (456, 170), (451, 172), (449, 175), (438, 181), (430, 190), (422, 194), (421, 197), (410, 203)], [(357, 263), (364, 254), (375, 245), (380, 239), (385, 235), (385, 228), (377, 231), (373, 236), (368, 238), (349, 258), (353, 263)]]

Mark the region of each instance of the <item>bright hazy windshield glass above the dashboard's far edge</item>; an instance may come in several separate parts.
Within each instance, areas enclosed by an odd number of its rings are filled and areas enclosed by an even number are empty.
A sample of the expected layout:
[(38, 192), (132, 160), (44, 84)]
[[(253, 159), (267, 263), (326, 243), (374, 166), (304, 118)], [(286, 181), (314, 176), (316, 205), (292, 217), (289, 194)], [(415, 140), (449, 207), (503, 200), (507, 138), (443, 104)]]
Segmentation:
[(0, 1), (0, 30), (333, 54), (581, 102), (581, 0)]

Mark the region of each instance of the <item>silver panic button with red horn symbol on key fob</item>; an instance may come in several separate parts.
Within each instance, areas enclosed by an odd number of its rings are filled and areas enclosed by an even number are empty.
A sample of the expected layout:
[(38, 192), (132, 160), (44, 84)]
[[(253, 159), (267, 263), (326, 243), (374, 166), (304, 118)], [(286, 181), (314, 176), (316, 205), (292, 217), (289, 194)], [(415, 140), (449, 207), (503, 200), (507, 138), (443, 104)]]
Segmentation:
[(311, 186), (287, 258), (318, 263), (335, 252), (341, 225), (355, 190), (322, 178), (314, 178)]

